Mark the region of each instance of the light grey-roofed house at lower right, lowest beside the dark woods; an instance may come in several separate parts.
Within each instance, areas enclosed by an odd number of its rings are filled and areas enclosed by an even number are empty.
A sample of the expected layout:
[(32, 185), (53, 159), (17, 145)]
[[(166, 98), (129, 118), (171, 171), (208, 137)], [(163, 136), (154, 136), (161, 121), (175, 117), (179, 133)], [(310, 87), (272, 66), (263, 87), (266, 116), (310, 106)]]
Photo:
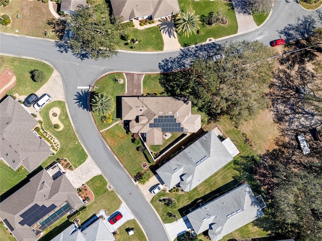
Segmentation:
[(197, 234), (209, 229), (208, 235), (216, 241), (263, 215), (252, 189), (243, 184), (198, 207), (187, 217)]

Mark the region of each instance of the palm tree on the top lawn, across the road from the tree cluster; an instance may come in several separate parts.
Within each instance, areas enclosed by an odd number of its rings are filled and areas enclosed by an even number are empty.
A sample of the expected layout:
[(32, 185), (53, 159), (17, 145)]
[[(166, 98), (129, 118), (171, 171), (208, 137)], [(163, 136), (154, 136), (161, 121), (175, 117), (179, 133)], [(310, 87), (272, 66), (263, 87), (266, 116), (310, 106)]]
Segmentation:
[(183, 12), (180, 14), (179, 17), (176, 18), (176, 26), (178, 33), (182, 32), (182, 36), (188, 36), (191, 33), (196, 34), (197, 30), (200, 29), (198, 24), (199, 21), (199, 15), (195, 15), (195, 11), (190, 13), (188, 10), (187, 12)]

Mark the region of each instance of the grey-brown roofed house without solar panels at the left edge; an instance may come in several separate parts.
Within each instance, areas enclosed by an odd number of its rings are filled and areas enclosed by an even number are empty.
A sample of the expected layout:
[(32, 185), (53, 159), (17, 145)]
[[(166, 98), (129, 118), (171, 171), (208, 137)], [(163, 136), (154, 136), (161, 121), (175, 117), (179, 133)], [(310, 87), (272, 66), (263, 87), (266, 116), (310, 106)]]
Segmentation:
[(0, 113), (0, 158), (15, 171), (23, 165), (32, 172), (52, 153), (32, 131), (38, 122), (11, 96), (0, 103)]

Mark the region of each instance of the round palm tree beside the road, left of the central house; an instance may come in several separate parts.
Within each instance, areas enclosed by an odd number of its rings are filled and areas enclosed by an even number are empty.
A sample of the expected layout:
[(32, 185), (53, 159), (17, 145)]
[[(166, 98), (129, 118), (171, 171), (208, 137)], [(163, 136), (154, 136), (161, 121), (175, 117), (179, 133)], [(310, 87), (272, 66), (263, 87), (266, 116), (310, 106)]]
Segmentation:
[(113, 97), (106, 93), (94, 95), (92, 101), (92, 110), (99, 115), (106, 115), (115, 109), (115, 101)]

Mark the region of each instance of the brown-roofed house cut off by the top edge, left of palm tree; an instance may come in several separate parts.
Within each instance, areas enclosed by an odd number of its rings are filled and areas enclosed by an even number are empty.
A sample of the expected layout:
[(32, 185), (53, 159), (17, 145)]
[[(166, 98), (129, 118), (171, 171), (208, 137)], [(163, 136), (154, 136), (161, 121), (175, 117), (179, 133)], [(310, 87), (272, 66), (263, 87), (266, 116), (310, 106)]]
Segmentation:
[(125, 21), (135, 18), (160, 19), (180, 12), (178, 0), (111, 0), (114, 16)]

